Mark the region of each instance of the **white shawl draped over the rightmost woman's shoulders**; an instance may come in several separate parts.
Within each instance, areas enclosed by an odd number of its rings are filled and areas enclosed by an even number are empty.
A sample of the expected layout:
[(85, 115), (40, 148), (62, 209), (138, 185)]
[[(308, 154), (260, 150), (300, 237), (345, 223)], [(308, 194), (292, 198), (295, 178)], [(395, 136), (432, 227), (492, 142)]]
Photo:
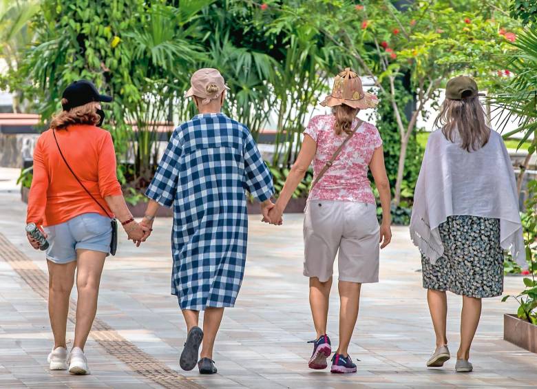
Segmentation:
[(410, 237), (434, 264), (443, 255), (439, 225), (450, 215), (500, 219), (500, 241), (527, 268), (512, 162), (501, 136), (467, 152), (441, 129), (429, 136), (414, 191)]

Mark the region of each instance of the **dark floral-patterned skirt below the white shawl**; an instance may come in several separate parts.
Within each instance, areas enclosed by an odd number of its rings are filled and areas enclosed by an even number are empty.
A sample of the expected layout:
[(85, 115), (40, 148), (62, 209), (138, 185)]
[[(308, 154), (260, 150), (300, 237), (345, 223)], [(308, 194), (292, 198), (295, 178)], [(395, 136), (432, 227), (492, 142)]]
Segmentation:
[(444, 255), (435, 264), (421, 255), (423, 288), (479, 298), (501, 295), (500, 220), (454, 215), (440, 224), (439, 231)]

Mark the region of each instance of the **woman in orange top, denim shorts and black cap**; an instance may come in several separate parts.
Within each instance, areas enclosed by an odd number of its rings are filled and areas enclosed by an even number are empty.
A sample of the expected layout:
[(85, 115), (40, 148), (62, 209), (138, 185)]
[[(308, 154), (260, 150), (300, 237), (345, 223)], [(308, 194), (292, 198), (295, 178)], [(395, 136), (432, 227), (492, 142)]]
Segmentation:
[[(116, 178), (112, 136), (99, 128), (105, 114), (101, 95), (89, 81), (75, 81), (63, 92), (63, 111), (52, 118), (50, 129), (37, 140), (34, 177), (28, 198), (27, 223), (34, 223), (49, 242), (48, 311), (54, 348), (50, 370), (88, 374), (84, 346), (97, 309), (105, 257), (112, 246), (117, 218), (130, 240), (138, 242), (145, 228), (132, 218)], [(34, 249), (39, 242), (28, 235)], [(74, 284), (76, 326), (73, 348), (67, 355), (65, 328)]]

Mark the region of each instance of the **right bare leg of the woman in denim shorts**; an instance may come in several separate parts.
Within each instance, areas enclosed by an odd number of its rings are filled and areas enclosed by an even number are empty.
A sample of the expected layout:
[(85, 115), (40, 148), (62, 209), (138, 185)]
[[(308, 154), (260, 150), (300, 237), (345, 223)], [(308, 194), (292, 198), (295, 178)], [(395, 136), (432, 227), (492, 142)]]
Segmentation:
[(84, 350), (87, 335), (97, 312), (99, 284), (106, 254), (101, 251), (79, 249), (76, 255), (78, 257), (78, 271), (76, 272), (78, 299), (73, 347), (80, 347)]

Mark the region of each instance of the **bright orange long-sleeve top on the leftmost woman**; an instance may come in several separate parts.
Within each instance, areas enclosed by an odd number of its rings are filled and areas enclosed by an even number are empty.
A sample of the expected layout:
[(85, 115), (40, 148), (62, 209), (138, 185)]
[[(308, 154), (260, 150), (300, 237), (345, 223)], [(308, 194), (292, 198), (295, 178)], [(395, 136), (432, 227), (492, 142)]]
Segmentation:
[[(92, 125), (56, 130), (63, 156), (89, 193), (112, 215), (103, 198), (122, 194), (116, 176), (116, 152), (110, 133)], [(106, 213), (69, 171), (54, 141), (43, 132), (34, 150), (34, 177), (26, 222), (45, 227), (67, 222), (83, 213)]]

